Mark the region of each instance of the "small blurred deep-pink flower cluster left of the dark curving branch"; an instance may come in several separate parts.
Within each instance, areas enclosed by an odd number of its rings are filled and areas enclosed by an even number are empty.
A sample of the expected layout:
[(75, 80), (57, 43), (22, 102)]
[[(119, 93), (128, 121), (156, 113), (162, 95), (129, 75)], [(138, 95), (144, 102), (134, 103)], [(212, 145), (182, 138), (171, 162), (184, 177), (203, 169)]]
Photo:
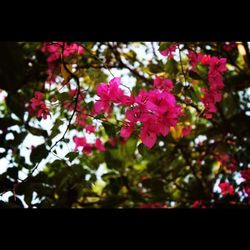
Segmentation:
[(39, 91), (36, 91), (35, 97), (31, 99), (31, 108), (37, 112), (37, 118), (47, 119), (47, 116), (50, 115), (49, 109), (44, 102), (43, 94)]

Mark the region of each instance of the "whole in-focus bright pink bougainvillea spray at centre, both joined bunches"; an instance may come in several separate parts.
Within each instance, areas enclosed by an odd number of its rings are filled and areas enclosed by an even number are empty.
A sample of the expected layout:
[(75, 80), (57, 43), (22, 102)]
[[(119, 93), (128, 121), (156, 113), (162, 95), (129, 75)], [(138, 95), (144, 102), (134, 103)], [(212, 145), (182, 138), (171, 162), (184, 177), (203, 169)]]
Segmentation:
[(140, 90), (137, 96), (127, 96), (119, 88), (121, 78), (113, 78), (109, 84), (101, 83), (97, 87), (97, 94), (100, 97), (94, 104), (94, 113), (110, 113), (112, 104), (120, 104), (130, 107), (125, 112), (124, 125), (120, 135), (128, 139), (136, 125), (142, 125), (140, 139), (148, 148), (152, 148), (158, 135), (166, 136), (170, 127), (176, 126), (181, 115), (181, 107), (170, 91), (173, 83), (169, 79), (156, 77), (154, 80), (155, 89), (146, 91)]

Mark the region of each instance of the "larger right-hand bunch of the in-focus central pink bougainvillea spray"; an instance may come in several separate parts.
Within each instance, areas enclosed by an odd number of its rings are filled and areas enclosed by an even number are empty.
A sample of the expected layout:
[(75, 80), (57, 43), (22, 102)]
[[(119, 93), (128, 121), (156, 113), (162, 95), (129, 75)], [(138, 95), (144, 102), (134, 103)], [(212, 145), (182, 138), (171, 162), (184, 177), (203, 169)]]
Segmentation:
[(133, 107), (125, 113), (126, 121), (121, 129), (121, 136), (127, 139), (137, 124), (142, 125), (140, 139), (148, 148), (154, 146), (157, 136), (166, 136), (181, 115), (181, 107), (170, 93), (172, 81), (156, 77), (154, 87), (157, 89), (140, 90)]

